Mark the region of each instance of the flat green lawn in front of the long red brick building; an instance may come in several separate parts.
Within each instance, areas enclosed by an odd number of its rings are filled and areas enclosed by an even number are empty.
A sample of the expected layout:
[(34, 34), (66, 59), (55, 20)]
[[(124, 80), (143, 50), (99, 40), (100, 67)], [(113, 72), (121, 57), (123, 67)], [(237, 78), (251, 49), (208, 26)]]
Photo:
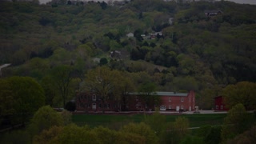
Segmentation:
[[(150, 115), (146, 115), (148, 117)], [(222, 125), (223, 118), (226, 114), (182, 114), (182, 115), (166, 115), (167, 122), (174, 122), (178, 117), (188, 118), (190, 127), (200, 126), (215, 126)], [(74, 114), (72, 120), (78, 126), (88, 125), (94, 126), (107, 126), (110, 128), (118, 129), (129, 122), (143, 122), (145, 119), (144, 114), (134, 115), (107, 115), (107, 114)]]

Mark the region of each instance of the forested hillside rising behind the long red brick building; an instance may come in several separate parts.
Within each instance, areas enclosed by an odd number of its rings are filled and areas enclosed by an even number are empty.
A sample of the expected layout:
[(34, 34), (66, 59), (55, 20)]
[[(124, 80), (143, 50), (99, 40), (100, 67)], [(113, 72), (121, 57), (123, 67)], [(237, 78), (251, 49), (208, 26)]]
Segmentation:
[(0, 2), (0, 65), (11, 63), (2, 77), (37, 79), (50, 106), (72, 99), (87, 71), (98, 66), (122, 71), (134, 87), (195, 90), (197, 105), (206, 109), (223, 87), (256, 82), (256, 6), (61, 2)]

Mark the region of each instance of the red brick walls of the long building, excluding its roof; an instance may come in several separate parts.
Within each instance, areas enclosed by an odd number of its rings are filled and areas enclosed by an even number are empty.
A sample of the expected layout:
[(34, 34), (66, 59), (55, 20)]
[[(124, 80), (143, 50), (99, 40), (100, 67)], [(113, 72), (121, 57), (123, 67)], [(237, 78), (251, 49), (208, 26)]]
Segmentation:
[[(85, 111), (116, 111), (122, 107), (122, 102), (108, 100), (102, 103), (101, 99), (96, 95), (96, 99), (93, 99), (94, 94), (78, 94), (76, 98), (76, 110)], [(159, 95), (160, 104), (158, 108), (165, 106), (165, 110), (194, 110), (195, 97), (194, 91), (190, 91), (186, 96), (177, 95)], [(169, 107), (171, 106), (171, 107)], [(146, 106), (146, 103), (139, 96), (130, 95), (130, 100), (126, 106), (126, 110), (154, 110), (154, 104)], [(162, 109), (164, 110), (164, 109)]]

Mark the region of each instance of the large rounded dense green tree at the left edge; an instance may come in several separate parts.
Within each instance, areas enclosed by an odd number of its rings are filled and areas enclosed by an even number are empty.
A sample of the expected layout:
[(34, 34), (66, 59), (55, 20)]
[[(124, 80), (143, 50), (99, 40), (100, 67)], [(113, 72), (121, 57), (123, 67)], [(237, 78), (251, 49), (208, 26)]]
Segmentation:
[(24, 123), (45, 104), (42, 86), (30, 77), (0, 79), (0, 115)]

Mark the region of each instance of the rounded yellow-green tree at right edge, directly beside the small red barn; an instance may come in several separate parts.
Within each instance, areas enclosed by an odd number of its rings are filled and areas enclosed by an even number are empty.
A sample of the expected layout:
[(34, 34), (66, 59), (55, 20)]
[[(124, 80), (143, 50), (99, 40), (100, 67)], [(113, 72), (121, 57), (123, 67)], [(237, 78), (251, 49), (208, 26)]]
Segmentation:
[(227, 107), (242, 103), (246, 110), (254, 110), (256, 108), (256, 83), (254, 82), (238, 82), (235, 85), (226, 86), (222, 95)]

